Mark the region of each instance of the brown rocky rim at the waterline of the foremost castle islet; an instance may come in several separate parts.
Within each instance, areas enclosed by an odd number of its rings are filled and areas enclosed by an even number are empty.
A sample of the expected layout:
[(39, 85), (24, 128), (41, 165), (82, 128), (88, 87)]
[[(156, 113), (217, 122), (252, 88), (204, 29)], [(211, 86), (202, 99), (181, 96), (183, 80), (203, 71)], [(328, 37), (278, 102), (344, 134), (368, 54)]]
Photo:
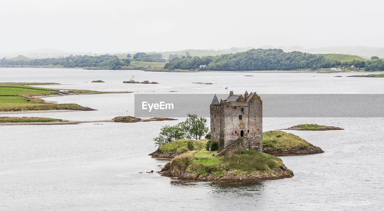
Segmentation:
[(287, 167), (280, 167), (274, 169), (274, 172), (258, 172), (253, 174), (234, 175), (230, 174), (229, 170), (226, 175), (222, 177), (215, 177), (212, 174), (201, 175), (192, 172), (181, 170), (180, 166), (167, 163), (164, 168), (158, 172), (164, 177), (171, 177), (173, 179), (184, 181), (209, 181), (209, 182), (245, 182), (245, 181), (260, 181), (260, 180), (277, 180), (293, 177), (293, 172)]

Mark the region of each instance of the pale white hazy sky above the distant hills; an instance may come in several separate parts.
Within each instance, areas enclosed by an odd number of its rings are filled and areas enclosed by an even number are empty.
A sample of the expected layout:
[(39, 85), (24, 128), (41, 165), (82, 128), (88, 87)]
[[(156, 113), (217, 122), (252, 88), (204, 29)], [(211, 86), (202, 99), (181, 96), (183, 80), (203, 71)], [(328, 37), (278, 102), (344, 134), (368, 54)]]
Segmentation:
[(384, 47), (382, 1), (0, 0), (0, 52)]

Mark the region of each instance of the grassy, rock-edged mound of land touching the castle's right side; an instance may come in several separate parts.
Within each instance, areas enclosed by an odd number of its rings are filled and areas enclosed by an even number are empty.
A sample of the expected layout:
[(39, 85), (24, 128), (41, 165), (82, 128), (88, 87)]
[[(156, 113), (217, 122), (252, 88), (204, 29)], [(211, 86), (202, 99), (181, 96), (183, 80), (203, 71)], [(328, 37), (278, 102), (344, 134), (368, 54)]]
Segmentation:
[(324, 151), (299, 136), (280, 130), (263, 133), (263, 153), (274, 156), (319, 154)]

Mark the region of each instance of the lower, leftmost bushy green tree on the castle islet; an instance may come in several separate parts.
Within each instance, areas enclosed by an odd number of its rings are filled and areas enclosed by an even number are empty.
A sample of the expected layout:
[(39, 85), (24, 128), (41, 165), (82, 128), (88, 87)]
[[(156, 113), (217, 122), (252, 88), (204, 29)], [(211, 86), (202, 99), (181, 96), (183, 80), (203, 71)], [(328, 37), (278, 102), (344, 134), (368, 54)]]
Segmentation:
[(156, 146), (162, 146), (166, 143), (184, 138), (185, 133), (177, 125), (165, 125), (161, 128), (160, 135), (154, 138)]

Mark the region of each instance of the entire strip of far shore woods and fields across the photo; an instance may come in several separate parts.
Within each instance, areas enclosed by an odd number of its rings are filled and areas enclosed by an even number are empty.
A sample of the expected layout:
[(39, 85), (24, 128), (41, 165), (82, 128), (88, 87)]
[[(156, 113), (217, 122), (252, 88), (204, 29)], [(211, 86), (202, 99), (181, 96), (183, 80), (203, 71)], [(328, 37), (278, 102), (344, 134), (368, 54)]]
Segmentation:
[[(167, 56), (167, 55), (165, 55)], [(0, 59), (0, 67), (81, 68), (88, 70), (144, 71), (294, 71), (324, 72), (333, 67), (342, 71), (384, 71), (384, 60), (371, 60), (343, 54), (308, 54), (281, 49), (251, 49), (245, 52), (218, 55), (162, 54), (139, 52), (123, 55), (70, 55), (62, 58), (32, 59), (19, 55)], [(340, 72), (340, 71), (337, 71)]]

